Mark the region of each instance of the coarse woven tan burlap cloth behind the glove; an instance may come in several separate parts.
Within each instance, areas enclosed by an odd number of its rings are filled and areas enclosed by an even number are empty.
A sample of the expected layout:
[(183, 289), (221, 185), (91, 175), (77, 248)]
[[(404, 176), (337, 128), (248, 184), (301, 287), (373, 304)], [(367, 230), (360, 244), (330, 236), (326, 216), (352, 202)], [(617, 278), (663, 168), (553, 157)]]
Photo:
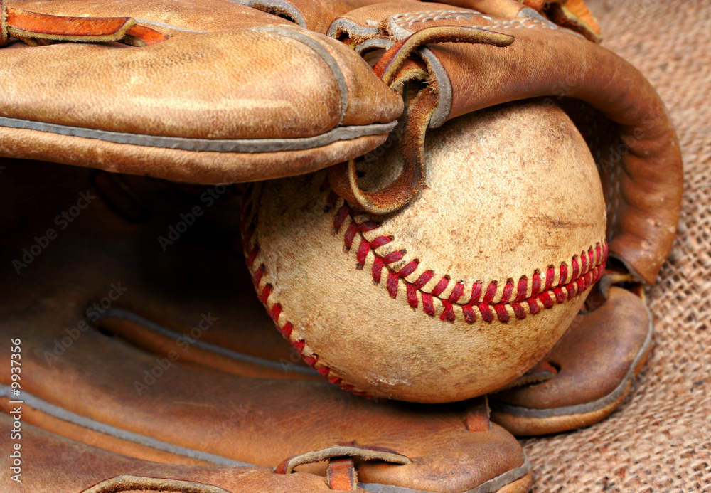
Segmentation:
[(685, 196), (648, 292), (653, 353), (602, 423), (525, 440), (540, 492), (711, 492), (711, 0), (589, 1), (603, 45), (655, 85), (677, 127)]

